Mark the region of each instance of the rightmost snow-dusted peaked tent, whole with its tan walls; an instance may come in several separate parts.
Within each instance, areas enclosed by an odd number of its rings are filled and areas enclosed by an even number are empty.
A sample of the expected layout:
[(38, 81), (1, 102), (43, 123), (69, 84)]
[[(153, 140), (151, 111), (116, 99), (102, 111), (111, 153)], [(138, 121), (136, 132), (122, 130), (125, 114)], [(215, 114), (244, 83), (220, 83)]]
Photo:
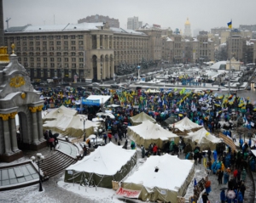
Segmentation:
[(189, 133), (189, 135), (184, 137), (184, 139), (191, 144), (193, 149), (195, 146), (200, 146), (201, 150), (209, 148), (212, 150), (216, 149), (216, 144), (222, 142), (221, 138), (216, 138), (214, 135), (207, 132), (206, 128), (204, 127), (194, 133)]

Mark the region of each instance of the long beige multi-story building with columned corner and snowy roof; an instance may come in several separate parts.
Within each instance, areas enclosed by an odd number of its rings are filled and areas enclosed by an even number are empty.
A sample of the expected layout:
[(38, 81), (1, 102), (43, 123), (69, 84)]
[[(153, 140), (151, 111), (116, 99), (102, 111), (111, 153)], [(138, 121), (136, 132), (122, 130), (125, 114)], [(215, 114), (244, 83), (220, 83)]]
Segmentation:
[(5, 45), (15, 43), (15, 54), (32, 79), (105, 80), (123, 61), (137, 65), (141, 59), (159, 60), (160, 31), (145, 32), (110, 28), (108, 22), (27, 25), (9, 28)]

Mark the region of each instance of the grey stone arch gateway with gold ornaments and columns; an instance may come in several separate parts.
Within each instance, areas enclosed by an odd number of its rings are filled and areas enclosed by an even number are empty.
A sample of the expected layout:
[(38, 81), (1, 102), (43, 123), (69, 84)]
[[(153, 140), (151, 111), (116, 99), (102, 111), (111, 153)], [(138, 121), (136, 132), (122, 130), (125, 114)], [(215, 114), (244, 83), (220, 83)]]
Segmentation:
[[(0, 48), (0, 161), (15, 161), (23, 156), (22, 149), (38, 150), (46, 146), (44, 101), (39, 98), (14, 51), (9, 56), (7, 48)], [(16, 115), (20, 121), (18, 129)]]

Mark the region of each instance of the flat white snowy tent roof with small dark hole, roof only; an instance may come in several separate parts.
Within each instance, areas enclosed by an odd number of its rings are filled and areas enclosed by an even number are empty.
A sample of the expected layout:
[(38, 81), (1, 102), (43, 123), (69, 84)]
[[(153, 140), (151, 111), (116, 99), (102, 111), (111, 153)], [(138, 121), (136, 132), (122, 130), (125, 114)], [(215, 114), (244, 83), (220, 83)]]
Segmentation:
[[(154, 172), (155, 167), (159, 168), (158, 172)], [(149, 189), (158, 187), (177, 191), (188, 178), (192, 168), (192, 161), (180, 160), (174, 155), (151, 155), (124, 183), (143, 184)]]

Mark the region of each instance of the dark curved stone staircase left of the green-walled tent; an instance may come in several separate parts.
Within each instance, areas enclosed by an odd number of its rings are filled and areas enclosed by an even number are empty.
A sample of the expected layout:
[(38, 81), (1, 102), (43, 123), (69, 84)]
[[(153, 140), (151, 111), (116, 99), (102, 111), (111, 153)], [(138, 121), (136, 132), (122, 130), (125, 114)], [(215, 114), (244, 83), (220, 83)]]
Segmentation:
[(40, 163), (40, 169), (46, 173), (46, 177), (54, 177), (55, 175), (63, 172), (68, 166), (77, 162), (69, 155), (65, 155), (60, 151), (56, 151), (54, 155), (51, 155)]

